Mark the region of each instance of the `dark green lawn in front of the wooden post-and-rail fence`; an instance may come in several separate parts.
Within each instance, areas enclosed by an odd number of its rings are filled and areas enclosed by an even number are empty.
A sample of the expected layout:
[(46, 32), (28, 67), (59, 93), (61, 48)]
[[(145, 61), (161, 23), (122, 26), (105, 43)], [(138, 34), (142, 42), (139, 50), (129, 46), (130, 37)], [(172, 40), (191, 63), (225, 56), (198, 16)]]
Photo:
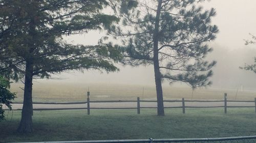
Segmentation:
[(256, 135), (253, 108), (166, 109), (166, 116), (156, 116), (155, 109), (34, 111), (32, 134), (19, 134), (21, 112), (9, 112), (0, 122), (0, 142), (60, 141), (141, 138), (194, 138)]

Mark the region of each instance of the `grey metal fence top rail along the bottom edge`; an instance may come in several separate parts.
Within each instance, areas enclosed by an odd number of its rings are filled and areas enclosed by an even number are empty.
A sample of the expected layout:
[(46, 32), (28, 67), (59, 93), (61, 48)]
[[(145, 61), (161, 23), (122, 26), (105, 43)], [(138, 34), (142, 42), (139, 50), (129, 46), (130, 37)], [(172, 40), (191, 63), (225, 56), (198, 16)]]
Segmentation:
[(218, 138), (171, 138), (171, 139), (121, 139), (121, 140), (84, 140), (84, 141), (46, 141), (17, 143), (130, 143), (130, 142), (256, 142), (256, 136), (218, 137)]

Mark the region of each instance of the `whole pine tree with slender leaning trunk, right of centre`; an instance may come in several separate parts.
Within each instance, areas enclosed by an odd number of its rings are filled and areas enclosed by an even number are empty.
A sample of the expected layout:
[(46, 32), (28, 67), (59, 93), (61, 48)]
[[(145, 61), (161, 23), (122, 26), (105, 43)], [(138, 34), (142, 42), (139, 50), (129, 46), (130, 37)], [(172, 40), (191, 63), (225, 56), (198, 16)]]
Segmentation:
[(215, 61), (204, 60), (212, 50), (208, 42), (218, 28), (211, 25), (215, 9), (204, 11), (196, 0), (146, 0), (123, 2), (121, 25), (109, 34), (122, 40), (124, 64), (154, 65), (158, 115), (164, 116), (162, 80), (183, 81), (193, 89), (210, 85)]

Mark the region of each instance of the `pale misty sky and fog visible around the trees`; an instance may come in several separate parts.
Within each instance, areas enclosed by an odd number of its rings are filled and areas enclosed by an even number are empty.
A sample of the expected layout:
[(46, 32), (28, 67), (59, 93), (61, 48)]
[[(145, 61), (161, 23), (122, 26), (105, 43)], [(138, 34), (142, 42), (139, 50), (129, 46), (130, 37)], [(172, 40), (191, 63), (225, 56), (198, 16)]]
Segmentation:
[[(249, 39), (249, 33), (256, 34), (256, 1), (255, 0), (211, 0), (200, 4), (204, 9), (215, 8), (217, 16), (212, 19), (212, 24), (219, 27), (217, 39), (211, 42), (214, 51), (207, 56), (209, 60), (217, 60), (214, 67), (212, 87), (237, 89), (243, 85), (244, 89), (256, 90), (256, 74), (240, 70), (244, 63), (253, 63), (256, 56), (256, 45), (244, 45), (244, 39)], [(99, 32), (90, 32), (86, 35), (67, 37), (68, 41), (80, 44), (96, 44), (103, 36)], [(100, 73), (87, 71), (82, 73), (63, 73), (61, 82), (81, 83), (121, 83), (154, 85), (153, 66), (123, 67), (118, 65), (117, 73)], [(49, 81), (48, 81), (49, 82)], [(56, 80), (50, 80), (56, 82)], [(60, 82), (60, 81), (57, 81)], [(179, 82), (178, 85), (181, 83)], [(168, 82), (164, 82), (168, 85)]]

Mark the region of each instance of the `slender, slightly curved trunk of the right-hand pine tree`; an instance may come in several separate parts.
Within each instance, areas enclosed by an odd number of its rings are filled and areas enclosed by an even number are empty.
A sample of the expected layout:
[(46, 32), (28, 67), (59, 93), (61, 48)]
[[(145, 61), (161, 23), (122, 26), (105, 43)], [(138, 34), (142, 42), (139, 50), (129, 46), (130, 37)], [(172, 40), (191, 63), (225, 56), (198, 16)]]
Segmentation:
[(159, 58), (158, 58), (158, 33), (159, 33), (159, 17), (161, 10), (162, 1), (158, 1), (157, 14), (155, 20), (155, 31), (153, 36), (154, 42), (154, 72), (155, 72), (155, 82), (157, 91), (157, 115), (164, 116), (164, 106), (163, 106), (163, 91), (161, 82), (161, 72), (159, 69)]

